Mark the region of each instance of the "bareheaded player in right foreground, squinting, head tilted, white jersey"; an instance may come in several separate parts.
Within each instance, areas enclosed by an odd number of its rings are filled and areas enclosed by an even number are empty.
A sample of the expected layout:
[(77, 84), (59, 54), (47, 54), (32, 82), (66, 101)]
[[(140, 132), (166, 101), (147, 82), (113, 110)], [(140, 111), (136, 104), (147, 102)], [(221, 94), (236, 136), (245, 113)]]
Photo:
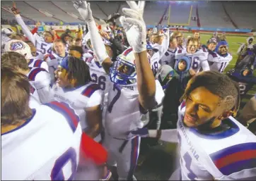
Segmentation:
[[(192, 77), (182, 96), (177, 130), (134, 130), (180, 146), (180, 168), (170, 180), (255, 180), (256, 136), (235, 118), (239, 86), (205, 71)], [(178, 133), (178, 134), (177, 134)]]

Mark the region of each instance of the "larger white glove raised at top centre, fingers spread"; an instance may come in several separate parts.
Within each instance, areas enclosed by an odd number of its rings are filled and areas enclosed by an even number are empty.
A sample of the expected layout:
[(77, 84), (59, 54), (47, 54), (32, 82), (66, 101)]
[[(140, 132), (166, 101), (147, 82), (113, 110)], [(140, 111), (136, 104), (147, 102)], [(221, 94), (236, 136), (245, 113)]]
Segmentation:
[(120, 17), (129, 45), (136, 53), (146, 50), (146, 25), (143, 20), (144, 1), (139, 1), (139, 6), (134, 1), (127, 1), (131, 9), (123, 8), (125, 15), (131, 18)]

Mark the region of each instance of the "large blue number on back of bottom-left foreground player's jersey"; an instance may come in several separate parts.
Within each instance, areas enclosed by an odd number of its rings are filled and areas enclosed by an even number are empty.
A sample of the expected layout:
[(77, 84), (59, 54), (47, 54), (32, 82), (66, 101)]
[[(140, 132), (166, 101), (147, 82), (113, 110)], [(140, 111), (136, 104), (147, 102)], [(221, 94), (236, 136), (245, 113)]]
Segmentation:
[[(71, 162), (71, 175), (69, 178), (64, 177), (63, 168), (66, 163)], [(76, 151), (70, 147), (62, 156), (59, 156), (54, 163), (51, 173), (52, 180), (74, 180), (74, 176), (77, 168)]]

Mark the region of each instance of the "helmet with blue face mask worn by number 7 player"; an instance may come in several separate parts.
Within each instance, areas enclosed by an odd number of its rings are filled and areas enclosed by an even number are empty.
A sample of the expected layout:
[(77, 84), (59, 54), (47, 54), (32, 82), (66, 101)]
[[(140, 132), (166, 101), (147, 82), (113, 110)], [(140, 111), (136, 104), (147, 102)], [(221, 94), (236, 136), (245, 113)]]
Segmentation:
[(131, 47), (117, 56), (117, 60), (110, 68), (110, 80), (118, 85), (136, 83), (135, 56)]

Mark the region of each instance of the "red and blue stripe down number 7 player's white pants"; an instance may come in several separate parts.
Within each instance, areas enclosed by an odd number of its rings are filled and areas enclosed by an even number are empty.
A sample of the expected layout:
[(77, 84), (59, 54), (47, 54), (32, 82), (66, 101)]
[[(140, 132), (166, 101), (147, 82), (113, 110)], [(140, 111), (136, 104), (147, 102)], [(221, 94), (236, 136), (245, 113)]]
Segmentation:
[(134, 137), (132, 139), (132, 150), (131, 150), (131, 158), (130, 158), (130, 170), (127, 176), (127, 180), (132, 180), (134, 175), (134, 170), (137, 165), (139, 157), (139, 137)]

